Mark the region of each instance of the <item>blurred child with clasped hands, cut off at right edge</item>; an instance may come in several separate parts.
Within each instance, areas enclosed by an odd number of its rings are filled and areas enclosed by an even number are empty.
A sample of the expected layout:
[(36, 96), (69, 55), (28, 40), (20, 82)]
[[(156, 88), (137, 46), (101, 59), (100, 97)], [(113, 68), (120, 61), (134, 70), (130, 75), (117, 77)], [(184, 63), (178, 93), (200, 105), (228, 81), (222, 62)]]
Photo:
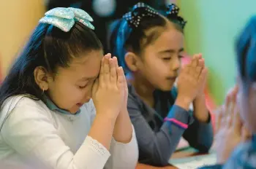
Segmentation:
[(238, 86), (217, 120), (218, 165), (204, 168), (256, 168), (256, 15), (238, 38), (236, 64)]

